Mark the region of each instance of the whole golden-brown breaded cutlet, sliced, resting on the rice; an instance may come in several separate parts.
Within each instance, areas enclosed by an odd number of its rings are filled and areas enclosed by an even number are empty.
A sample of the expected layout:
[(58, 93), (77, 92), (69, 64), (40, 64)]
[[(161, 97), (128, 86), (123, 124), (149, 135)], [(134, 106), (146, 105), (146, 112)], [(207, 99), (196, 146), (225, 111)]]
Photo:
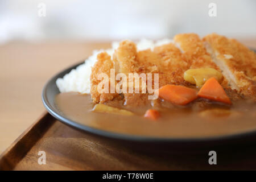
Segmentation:
[[(106, 52), (100, 53), (90, 76), (92, 100), (98, 103), (117, 98), (123, 99), (123, 103), (127, 105), (135, 100), (140, 100), (139, 103), (142, 104), (148, 103), (144, 102), (148, 92), (128, 93), (129, 88), (127, 93), (121, 94), (98, 93), (97, 86), (101, 82), (97, 80), (98, 75), (106, 73), (110, 77), (111, 68), (115, 69), (115, 75), (123, 73), (127, 79), (129, 73), (158, 73), (159, 88), (167, 84), (191, 86), (191, 83), (184, 80), (185, 71), (192, 68), (213, 68), (222, 72), (220, 83), (226, 92), (232, 93), (232, 100), (240, 99), (241, 94), (256, 101), (256, 56), (253, 51), (236, 40), (216, 34), (205, 36), (203, 40), (196, 34), (179, 34), (174, 41), (175, 44), (164, 44), (153, 50), (137, 52), (135, 43), (125, 40), (115, 50), (113, 60)], [(114, 82), (117, 84), (117, 81)], [(147, 78), (146, 82), (148, 83)], [(155, 86), (152, 76), (152, 88), (156, 88)]]

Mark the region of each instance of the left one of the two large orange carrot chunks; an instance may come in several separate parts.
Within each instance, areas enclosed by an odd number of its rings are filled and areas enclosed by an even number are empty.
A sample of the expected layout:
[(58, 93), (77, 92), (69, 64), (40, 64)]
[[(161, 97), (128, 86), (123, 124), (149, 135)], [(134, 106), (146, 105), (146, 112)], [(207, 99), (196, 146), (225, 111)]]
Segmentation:
[(178, 105), (186, 105), (197, 98), (194, 89), (180, 85), (164, 85), (159, 89), (159, 97)]

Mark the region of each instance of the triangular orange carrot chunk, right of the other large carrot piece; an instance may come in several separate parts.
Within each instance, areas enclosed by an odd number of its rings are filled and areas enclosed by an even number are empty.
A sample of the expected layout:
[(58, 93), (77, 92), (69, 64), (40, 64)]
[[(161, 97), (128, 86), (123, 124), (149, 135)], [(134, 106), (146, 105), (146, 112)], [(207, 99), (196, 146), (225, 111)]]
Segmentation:
[(216, 78), (209, 78), (202, 88), (199, 90), (198, 96), (208, 98), (209, 100), (224, 102), (225, 104), (232, 104), (225, 90), (218, 83)]

